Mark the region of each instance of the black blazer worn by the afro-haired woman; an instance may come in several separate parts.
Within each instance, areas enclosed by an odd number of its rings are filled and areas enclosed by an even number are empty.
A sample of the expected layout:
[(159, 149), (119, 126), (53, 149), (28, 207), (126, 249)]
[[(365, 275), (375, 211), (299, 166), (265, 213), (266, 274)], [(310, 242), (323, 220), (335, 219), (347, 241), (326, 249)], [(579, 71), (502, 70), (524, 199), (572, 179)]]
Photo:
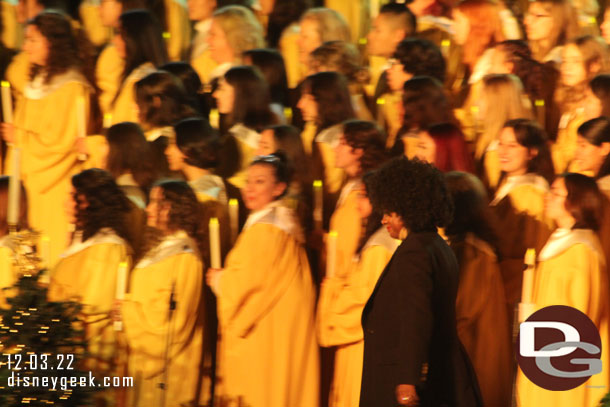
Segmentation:
[(417, 387), (421, 406), (479, 406), (476, 376), (455, 322), (458, 264), (436, 232), (410, 233), (362, 313), (360, 406), (395, 407), (398, 384)]

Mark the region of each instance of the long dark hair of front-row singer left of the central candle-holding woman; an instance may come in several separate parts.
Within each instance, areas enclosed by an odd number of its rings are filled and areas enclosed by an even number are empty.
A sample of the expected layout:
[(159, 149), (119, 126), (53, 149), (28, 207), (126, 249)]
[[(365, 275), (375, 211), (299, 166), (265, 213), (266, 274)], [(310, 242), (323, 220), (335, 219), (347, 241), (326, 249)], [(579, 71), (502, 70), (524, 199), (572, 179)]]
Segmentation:
[(169, 203), (167, 226), (171, 231), (183, 230), (195, 240), (199, 255), (206, 253), (201, 230), (201, 204), (193, 189), (185, 181), (163, 180), (154, 185), (163, 191), (163, 201)]

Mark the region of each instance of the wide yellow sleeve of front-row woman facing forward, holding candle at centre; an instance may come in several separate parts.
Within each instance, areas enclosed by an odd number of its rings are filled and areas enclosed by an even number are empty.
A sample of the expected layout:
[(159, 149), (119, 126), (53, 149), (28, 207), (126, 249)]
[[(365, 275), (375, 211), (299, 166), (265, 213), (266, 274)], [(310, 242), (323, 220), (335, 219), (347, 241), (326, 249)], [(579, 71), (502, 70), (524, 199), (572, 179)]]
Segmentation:
[[(303, 267), (309, 273), (304, 255), (294, 238), (276, 226), (255, 224), (242, 232), (229, 256), (218, 287), (218, 317), (239, 337), (246, 337), (252, 327), (269, 310), (294, 278), (287, 271)], [(301, 262), (295, 267), (294, 262)]]

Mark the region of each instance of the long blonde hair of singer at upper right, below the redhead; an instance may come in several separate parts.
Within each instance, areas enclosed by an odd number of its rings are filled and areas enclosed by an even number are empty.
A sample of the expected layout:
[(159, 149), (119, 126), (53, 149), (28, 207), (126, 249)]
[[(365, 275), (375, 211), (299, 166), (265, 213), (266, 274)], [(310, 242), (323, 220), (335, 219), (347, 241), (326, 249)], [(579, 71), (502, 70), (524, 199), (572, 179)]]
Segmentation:
[(486, 109), (482, 119), (483, 131), (476, 143), (477, 158), (481, 158), (489, 144), (498, 138), (508, 120), (534, 118), (521, 80), (515, 75), (487, 75), (483, 78), (479, 101)]

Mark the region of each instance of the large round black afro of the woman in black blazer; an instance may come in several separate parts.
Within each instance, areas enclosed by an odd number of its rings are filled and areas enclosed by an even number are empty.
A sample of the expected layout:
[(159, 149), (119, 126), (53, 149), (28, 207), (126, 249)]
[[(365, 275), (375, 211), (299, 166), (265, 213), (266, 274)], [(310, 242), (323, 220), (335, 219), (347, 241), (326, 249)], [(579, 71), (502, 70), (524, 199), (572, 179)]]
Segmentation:
[(432, 164), (394, 158), (375, 171), (369, 186), (373, 207), (396, 213), (409, 232), (436, 231), (451, 221), (451, 196), (443, 173)]

